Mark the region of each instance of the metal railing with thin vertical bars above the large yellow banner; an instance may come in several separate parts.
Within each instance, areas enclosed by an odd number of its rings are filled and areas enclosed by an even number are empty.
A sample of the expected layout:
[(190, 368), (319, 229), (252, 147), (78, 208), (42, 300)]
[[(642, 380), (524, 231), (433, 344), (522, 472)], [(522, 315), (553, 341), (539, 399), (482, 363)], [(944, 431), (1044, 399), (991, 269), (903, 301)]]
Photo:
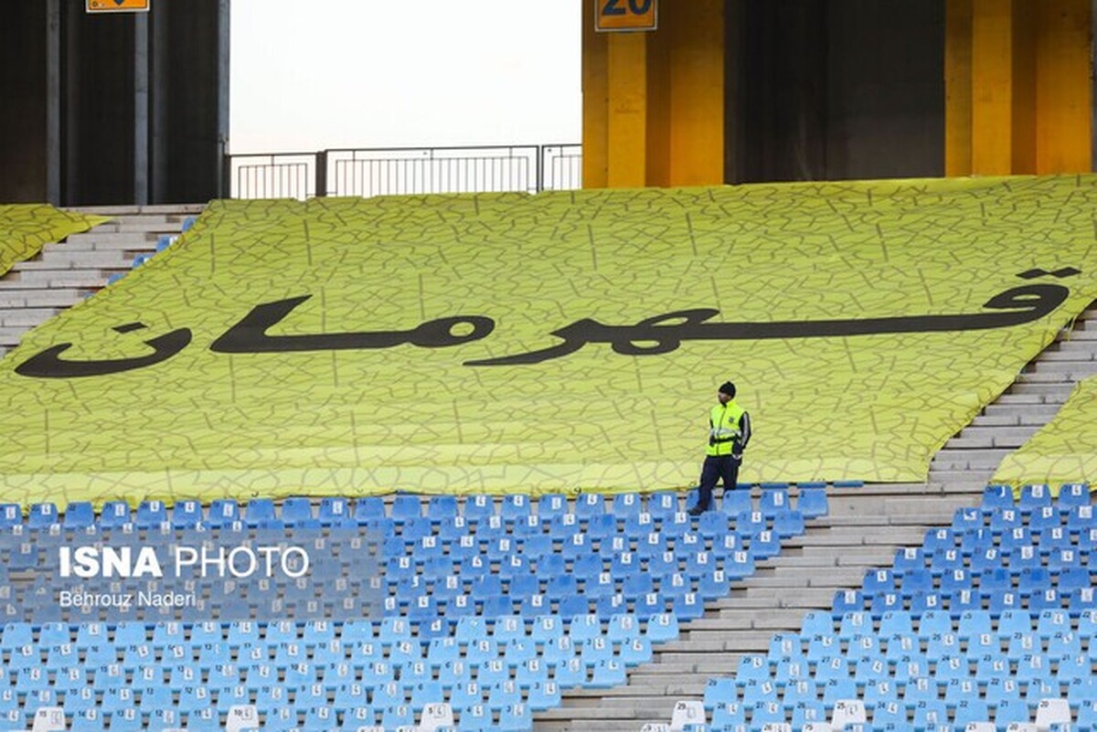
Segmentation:
[(581, 145), (336, 149), (227, 156), (230, 198), (568, 191)]

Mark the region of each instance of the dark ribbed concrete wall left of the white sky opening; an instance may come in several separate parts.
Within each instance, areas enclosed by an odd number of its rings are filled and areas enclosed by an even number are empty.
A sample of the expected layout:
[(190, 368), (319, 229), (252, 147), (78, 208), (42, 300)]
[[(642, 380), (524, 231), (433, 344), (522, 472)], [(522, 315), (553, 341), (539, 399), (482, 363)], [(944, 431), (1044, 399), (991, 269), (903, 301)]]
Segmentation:
[(227, 0), (151, 0), (148, 13), (89, 15), (84, 0), (5, 1), (0, 202), (217, 197), (227, 8)]

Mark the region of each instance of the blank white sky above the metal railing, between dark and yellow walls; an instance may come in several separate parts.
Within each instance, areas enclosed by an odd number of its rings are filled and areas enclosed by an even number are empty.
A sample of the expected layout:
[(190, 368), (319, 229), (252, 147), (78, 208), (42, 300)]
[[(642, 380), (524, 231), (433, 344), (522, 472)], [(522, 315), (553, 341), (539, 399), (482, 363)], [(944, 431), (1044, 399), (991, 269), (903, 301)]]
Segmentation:
[(229, 152), (579, 142), (580, 0), (233, 0)]

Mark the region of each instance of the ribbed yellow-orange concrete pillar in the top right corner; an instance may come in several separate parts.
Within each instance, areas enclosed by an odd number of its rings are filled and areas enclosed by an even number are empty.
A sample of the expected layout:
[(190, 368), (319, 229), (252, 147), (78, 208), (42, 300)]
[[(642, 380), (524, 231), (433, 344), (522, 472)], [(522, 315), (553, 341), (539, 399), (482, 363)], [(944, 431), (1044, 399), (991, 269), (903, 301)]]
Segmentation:
[(1089, 0), (948, 0), (948, 175), (1092, 168)]

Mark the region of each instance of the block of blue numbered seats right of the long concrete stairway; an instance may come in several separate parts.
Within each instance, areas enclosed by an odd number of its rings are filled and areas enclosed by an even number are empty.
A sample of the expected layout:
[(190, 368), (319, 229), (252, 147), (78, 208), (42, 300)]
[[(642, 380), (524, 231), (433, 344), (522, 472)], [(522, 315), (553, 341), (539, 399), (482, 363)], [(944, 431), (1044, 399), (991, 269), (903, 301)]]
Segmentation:
[(1081, 483), (1055, 502), (1047, 487), (1025, 487), (1016, 503), (988, 487), (982, 506), (836, 593), (800, 633), (711, 679), (711, 724), (757, 729), (759, 713), (788, 722), (818, 707), (826, 721), (841, 705), (859, 706), (871, 729), (1028, 722), (1049, 704), (1081, 719), (1097, 701), (1089, 501)]

